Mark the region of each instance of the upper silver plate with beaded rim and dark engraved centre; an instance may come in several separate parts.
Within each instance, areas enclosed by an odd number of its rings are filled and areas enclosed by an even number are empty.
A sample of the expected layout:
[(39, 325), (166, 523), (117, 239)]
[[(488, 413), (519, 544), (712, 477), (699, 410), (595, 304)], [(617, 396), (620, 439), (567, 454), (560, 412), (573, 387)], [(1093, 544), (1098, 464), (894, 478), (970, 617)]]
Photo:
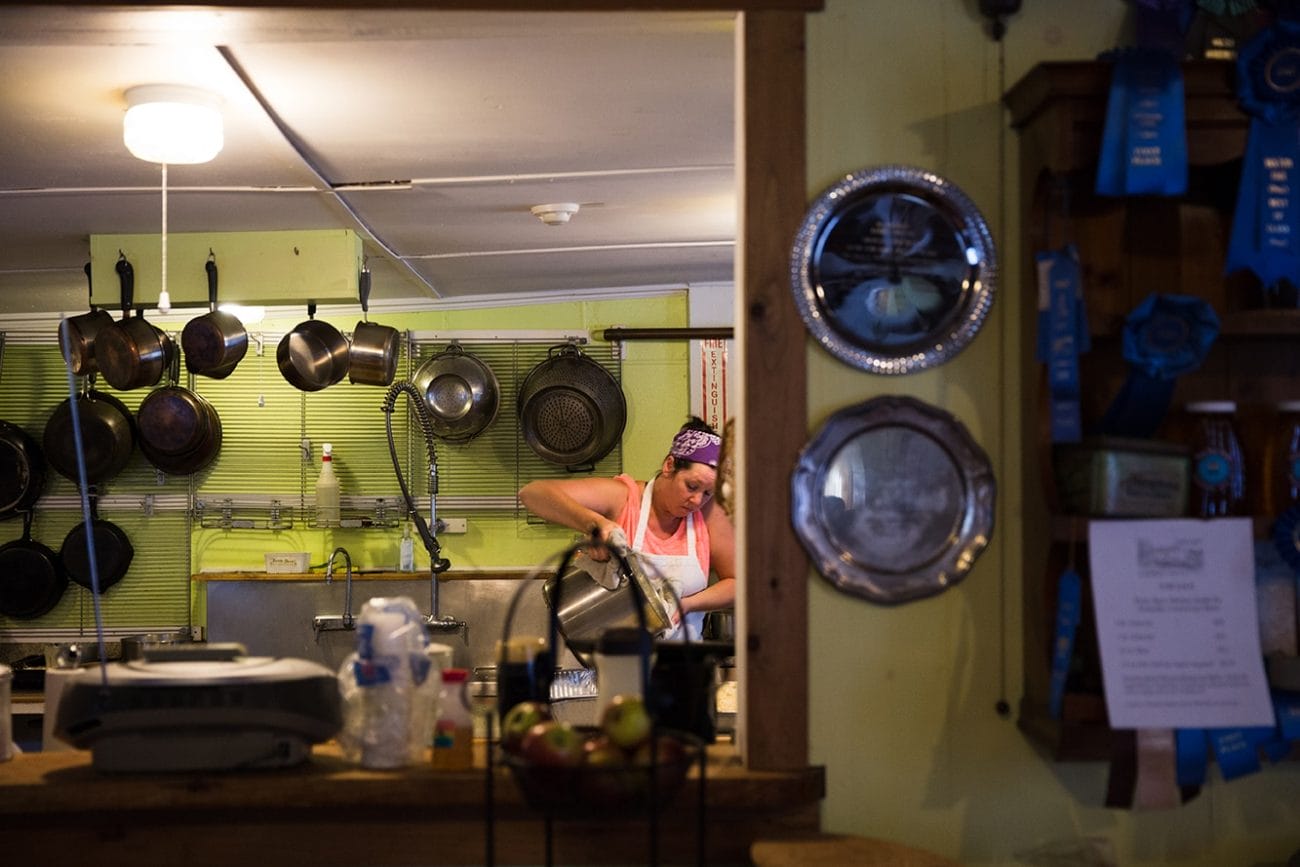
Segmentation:
[(809, 333), (871, 373), (942, 364), (993, 304), (997, 257), (975, 204), (952, 182), (902, 165), (845, 175), (814, 200), (790, 282)]

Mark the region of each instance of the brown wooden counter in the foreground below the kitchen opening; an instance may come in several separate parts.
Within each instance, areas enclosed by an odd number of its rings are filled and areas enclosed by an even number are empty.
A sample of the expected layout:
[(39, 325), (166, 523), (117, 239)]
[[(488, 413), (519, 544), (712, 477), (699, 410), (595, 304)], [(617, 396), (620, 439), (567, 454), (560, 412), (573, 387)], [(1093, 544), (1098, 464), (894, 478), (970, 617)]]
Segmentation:
[[(370, 771), (318, 745), (292, 768), (108, 775), (88, 751), (29, 753), (0, 763), (0, 825), (13, 863), (315, 864), (645, 863), (646, 835), (667, 861), (748, 863), (753, 840), (816, 831), (824, 768), (749, 771), (729, 744), (707, 750), (673, 802), (654, 814), (554, 819), (521, 798), (504, 767), (486, 773), (424, 763)], [(707, 815), (707, 820), (706, 820)], [(550, 831), (550, 833), (547, 833)], [(382, 850), (382, 855), (376, 851)], [(627, 853), (627, 854), (619, 854)]]

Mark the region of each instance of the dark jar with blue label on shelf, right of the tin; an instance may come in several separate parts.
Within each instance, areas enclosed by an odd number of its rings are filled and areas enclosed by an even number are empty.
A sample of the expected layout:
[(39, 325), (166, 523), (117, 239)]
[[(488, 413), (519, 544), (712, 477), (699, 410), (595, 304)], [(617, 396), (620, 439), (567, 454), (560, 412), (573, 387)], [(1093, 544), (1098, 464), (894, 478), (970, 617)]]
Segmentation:
[(1236, 433), (1236, 402), (1188, 403), (1192, 419), (1192, 513), (1247, 515), (1245, 459)]

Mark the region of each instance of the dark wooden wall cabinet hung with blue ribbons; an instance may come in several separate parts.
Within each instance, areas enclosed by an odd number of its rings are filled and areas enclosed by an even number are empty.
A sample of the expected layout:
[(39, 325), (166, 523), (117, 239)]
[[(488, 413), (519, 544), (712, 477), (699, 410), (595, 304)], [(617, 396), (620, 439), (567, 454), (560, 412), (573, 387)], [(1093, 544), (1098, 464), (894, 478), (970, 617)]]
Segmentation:
[(1273, 510), (1261, 478), (1273, 407), (1278, 400), (1300, 398), (1300, 311), (1295, 298), (1266, 295), (1248, 273), (1223, 274), (1248, 129), (1234, 92), (1234, 64), (1184, 64), (1191, 170), (1188, 192), (1179, 198), (1093, 194), (1110, 70), (1102, 61), (1043, 64), (1005, 97), (1020, 143), (1024, 315), (1019, 337), (1028, 383), (1020, 406), (1026, 572), (1019, 724), (1058, 759), (1105, 758), (1110, 733), (1087, 593), (1062, 719), (1048, 715), (1056, 580), (1071, 559), (1087, 576), (1087, 519), (1063, 515), (1054, 491), (1045, 376), (1034, 351), (1035, 253), (1065, 243), (1079, 251), (1093, 338), (1092, 350), (1080, 357), (1086, 428), (1101, 417), (1127, 376), (1121, 328), (1139, 302), (1161, 292), (1195, 295), (1213, 304), (1222, 321), (1219, 338), (1205, 364), (1179, 378), (1171, 412), (1157, 437), (1184, 437), (1178, 409), (1190, 400), (1236, 400), (1248, 455), (1248, 497), (1261, 533)]

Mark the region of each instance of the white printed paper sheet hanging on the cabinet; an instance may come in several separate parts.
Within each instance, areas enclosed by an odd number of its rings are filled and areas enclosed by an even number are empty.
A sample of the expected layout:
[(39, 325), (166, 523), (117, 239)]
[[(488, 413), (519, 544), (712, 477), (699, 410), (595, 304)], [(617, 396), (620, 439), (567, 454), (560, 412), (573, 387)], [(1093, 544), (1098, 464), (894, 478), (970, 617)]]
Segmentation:
[(1091, 521), (1112, 728), (1273, 725), (1249, 519)]

